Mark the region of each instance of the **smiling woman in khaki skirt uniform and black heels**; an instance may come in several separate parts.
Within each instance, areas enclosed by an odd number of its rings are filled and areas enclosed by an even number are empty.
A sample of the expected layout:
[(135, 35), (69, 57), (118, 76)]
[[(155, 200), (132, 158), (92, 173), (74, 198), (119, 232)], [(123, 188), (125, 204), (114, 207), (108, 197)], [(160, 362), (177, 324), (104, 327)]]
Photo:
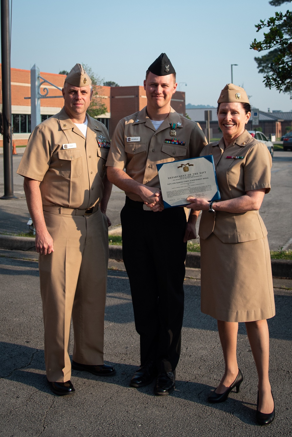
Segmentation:
[(213, 155), (221, 200), (189, 197), (188, 208), (202, 210), (201, 310), (217, 319), (225, 372), (209, 402), (223, 402), (239, 392), (243, 375), (237, 366), (238, 322), (245, 322), (258, 373), (257, 422), (271, 423), (274, 399), (268, 377), (267, 320), (275, 315), (267, 230), (258, 213), (270, 191), (271, 155), (245, 130), (250, 104), (243, 88), (232, 83), (221, 91), (218, 121), (223, 138), (205, 146)]

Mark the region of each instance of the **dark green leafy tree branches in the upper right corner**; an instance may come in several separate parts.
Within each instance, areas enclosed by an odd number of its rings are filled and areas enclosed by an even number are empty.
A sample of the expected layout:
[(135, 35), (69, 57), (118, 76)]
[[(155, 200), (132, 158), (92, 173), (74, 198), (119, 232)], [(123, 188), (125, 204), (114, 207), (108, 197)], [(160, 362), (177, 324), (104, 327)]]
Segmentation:
[[(271, 0), (272, 6), (291, 3), (292, 0)], [(279, 92), (290, 94), (292, 98), (292, 12), (275, 12), (274, 17), (256, 24), (257, 32), (268, 28), (263, 41), (250, 45), (257, 52), (270, 50), (266, 55), (255, 57), (259, 73), (264, 73), (264, 84), (268, 88), (275, 87)], [(272, 50), (271, 50), (272, 49)]]

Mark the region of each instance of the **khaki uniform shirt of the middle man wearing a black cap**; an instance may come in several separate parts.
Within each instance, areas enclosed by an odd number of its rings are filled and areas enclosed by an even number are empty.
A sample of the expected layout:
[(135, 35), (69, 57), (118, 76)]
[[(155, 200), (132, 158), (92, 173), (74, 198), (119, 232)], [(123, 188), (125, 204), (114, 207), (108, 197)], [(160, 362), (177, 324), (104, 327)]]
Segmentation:
[[(176, 132), (184, 145), (169, 144), (170, 124), (177, 123)], [(130, 142), (127, 139), (137, 139)], [(198, 123), (177, 114), (173, 108), (155, 130), (146, 107), (118, 122), (111, 139), (107, 166), (126, 169), (132, 179), (147, 187), (160, 188), (156, 164), (195, 158), (207, 144)], [(125, 192), (130, 199), (143, 201), (137, 194)]]

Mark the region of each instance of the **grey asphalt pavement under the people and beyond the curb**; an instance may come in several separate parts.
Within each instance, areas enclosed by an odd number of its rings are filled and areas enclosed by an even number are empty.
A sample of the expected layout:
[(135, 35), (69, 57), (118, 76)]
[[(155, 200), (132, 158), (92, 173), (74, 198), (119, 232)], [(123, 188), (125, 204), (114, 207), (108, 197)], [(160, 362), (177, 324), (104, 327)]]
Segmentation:
[[(275, 212), (270, 234), (275, 229), (278, 232), (275, 240), (278, 238), (281, 244), (291, 238), (291, 226), (288, 226), (291, 213), (286, 208), (286, 214), (285, 205), (286, 196), (291, 198), (289, 171), (292, 153), (285, 153), (288, 155), (279, 156), (284, 161), (274, 162), (273, 169), (278, 171), (272, 173), (281, 208)], [(19, 158), (14, 156), (14, 165)], [(13, 229), (19, 231), (21, 226), (24, 231), (27, 229), (29, 215), (25, 210), (23, 180), (17, 175), (14, 180), (15, 194), (19, 198), (0, 201), (0, 232), (17, 232)], [(276, 180), (279, 183), (284, 181), (284, 188), (280, 185), (277, 188)], [(285, 191), (285, 205), (281, 201), (281, 191)], [(119, 205), (123, 201), (124, 194), (116, 189), (108, 209), (114, 225), (119, 224)], [(273, 202), (263, 207), (266, 217), (263, 212), (262, 216), (268, 227), (271, 209), (276, 211), (276, 207)], [(289, 227), (288, 231), (286, 227)], [(274, 281), (276, 316), (268, 320), (268, 324), (270, 380), (276, 418), (271, 425), (260, 427), (255, 422), (257, 373), (243, 323), (240, 323), (238, 334), (238, 363), (244, 377), (240, 393), (232, 392), (226, 402), (218, 405), (206, 402), (209, 391), (219, 383), (224, 361), (216, 320), (200, 312), (199, 269), (187, 269), (184, 281), (185, 314), (176, 390), (169, 396), (155, 396), (154, 382), (145, 388), (129, 387), (129, 380), (139, 365), (139, 337), (134, 326), (129, 279), (124, 265), (111, 260), (109, 267), (104, 353), (106, 362), (115, 365), (117, 375), (99, 378), (87, 372), (73, 371), (71, 380), (76, 393), (58, 397), (50, 392), (45, 378), (36, 253), (0, 250), (1, 437), (291, 435), (291, 280)], [(71, 335), (70, 354), (72, 350)]]

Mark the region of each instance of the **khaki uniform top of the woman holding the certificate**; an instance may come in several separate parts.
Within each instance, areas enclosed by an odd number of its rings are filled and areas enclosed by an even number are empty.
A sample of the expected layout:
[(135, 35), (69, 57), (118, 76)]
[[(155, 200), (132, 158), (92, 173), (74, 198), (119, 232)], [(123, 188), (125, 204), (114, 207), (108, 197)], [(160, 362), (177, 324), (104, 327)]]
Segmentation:
[[(244, 131), (233, 145), (224, 149), (224, 140), (208, 144), (201, 156), (213, 155), (221, 200), (243, 196), (247, 191), (271, 189), (272, 159), (268, 148)], [(226, 158), (243, 156), (243, 159)], [(222, 243), (241, 243), (263, 238), (268, 234), (258, 211), (211, 214), (202, 211), (199, 236), (206, 239), (214, 234)]]

